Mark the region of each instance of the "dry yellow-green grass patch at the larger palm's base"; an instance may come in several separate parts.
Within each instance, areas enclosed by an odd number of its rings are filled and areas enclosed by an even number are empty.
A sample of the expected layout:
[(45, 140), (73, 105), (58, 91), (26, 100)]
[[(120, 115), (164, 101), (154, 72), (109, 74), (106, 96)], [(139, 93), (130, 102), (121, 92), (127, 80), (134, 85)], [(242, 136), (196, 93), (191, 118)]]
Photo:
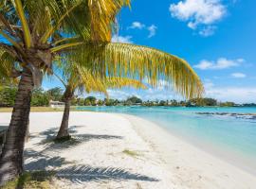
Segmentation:
[(35, 171), (25, 172), (19, 178), (7, 182), (3, 189), (48, 189), (52, 188), (53, 172)]

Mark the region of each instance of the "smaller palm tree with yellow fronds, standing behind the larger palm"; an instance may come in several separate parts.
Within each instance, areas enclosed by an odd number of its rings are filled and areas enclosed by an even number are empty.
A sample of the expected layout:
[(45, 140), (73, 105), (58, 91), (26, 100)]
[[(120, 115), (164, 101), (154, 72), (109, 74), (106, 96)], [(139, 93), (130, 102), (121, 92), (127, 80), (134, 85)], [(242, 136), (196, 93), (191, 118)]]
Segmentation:
[(104, 77), (98, 76), (86, 68), (79, 66), (78, 63), (59, 63), (61, 77), (54, 74), (64, 85), (64, 115), (61, 127), (58, 131), (57, 140), (69, 139), (68, 120), (71, 100), (74, 97), (75, 91), (79, 89), (80, 93), (100, 92), (107, 94), (108, 88), (134, 87), (136, 89), (146, 89), (147, 87), (140, 81), (125, 77)]

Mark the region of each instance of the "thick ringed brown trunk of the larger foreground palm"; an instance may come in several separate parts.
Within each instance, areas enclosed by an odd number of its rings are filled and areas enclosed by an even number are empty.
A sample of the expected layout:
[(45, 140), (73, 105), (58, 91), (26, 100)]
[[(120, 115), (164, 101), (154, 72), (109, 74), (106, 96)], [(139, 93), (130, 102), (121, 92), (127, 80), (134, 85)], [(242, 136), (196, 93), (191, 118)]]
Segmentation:
[(32, 89), (32, 74), (25, 69), (21, 76), (6, 142), (0, 156), (0, 186), (23, 172), (23, 152)]

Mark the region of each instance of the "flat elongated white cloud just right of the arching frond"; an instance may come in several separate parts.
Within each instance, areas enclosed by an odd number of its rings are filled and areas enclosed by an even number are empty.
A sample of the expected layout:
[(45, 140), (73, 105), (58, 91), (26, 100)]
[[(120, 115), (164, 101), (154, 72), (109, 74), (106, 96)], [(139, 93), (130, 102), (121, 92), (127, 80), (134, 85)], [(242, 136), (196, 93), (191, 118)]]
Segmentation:
[(198, 64), (193, 67), (198, 68), (200, 70), (222, 70), (230, 67), (239, 66), (245, 60), (237, 59), (237, 60), (228, 60), (226, 58), (220, 58), (216, 61), (210, 60), (201, 60)]

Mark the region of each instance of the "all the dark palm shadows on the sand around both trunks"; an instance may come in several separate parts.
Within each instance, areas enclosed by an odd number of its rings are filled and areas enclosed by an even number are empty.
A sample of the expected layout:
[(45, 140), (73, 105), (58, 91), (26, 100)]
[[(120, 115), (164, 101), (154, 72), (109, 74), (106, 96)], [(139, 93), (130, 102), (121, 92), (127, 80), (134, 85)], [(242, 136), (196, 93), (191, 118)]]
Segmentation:
[(121, 140), (123, 138), (115, 135), (78, 134), (76, 128), (77, 127), (70, 127), (69, 133), (72, 135), (72, 138), (71, 140), (62, 143), (55, 143), (53, 140), (57, 134), (58, 128), (47, 129), (46, 131), (39, 133), (40, 137), (44, 138), (44, 140), (37, 145), (43, 145), (44, 150), (35, 151), (32, 149), (26, 149), (24, 153), (26, 160), (25, 169), (27, 171), (54, 172), (57, 178), (70, 180), (72, 182), (106, 180), (158, 181), (155, 178), (138, 173), (131, 173), (119, 167), (93, 167), (88, 164), (74, 164), (74, 162), (65, 161), (63, 157), (56, 156), (56, 154), (49, 155), (48, 152), (58, 152), (58, 150), (64, 150), (68, 147), (77, 146), (91, 140)]

